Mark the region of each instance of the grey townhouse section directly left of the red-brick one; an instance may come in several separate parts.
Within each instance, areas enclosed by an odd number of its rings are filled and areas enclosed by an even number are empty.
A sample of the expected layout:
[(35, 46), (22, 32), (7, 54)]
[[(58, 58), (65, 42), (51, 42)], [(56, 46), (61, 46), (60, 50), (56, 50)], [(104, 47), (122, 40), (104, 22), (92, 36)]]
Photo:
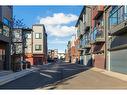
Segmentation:
[(80, 64), (86, 66), (92, 64), (90, 45), (91, 11), (91, 6), (84, 6), (75, 26), (77, 27), (77, 36), (80, 43), (78, 46), (80, 52)]

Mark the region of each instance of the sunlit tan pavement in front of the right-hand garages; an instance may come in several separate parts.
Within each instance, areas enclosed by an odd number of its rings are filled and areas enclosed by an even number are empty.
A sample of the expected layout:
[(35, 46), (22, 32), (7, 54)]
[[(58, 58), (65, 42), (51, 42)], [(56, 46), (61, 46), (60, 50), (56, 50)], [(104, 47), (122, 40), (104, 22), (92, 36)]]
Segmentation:
[(127, 75), (91, 68), (43, 89), (127, 89)]

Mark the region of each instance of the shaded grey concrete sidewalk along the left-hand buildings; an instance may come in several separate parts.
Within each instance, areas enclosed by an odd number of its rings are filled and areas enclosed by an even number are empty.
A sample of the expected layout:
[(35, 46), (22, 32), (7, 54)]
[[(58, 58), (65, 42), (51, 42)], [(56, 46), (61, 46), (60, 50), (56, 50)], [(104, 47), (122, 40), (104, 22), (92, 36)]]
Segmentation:
[(23, 77), (23, 76), (25, 76), (25, 75), (27, 75), (27, 74), (29, 74), (32, 71), (37, 70), (37, 69), (38, 68), (36, 68), (36, 67), (32, 67), (30, 69), (25, 69), (25, 70), (22, 70), (20, 72), (14, 72), (14, 73), (12, 73), (12, 72), (11, 73), (9, 73), (9, 72), (6, 73), (6, 71), (3, 71), (1, 73), (1, 76), (0, 76), (0, 85), (6, 84), (6, 83), (11, 82), (13, 80), (16, 80), (20, 77)]

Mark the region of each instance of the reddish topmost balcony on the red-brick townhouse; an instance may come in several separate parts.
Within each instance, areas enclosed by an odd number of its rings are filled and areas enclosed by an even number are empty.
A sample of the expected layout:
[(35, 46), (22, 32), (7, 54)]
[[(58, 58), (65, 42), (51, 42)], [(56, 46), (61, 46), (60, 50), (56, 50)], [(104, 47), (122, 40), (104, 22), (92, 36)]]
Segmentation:
[(96, 6), (93, 9), (93, 19), (98, 19), (104, 12), (104, 6)]

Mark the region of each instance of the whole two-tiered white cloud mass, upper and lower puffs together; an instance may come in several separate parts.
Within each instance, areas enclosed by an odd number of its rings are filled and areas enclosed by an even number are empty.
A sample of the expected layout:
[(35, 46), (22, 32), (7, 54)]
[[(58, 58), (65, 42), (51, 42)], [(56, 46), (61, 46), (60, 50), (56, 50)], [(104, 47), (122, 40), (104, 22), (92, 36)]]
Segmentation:
[(45, 25), (48, 35), (67, 37), (75, 33), (75, 27), (68, 24), (77, 19), (78, 16), (74, 14), (54, 13), (52, 16), (40, 17), (39, 23)]

